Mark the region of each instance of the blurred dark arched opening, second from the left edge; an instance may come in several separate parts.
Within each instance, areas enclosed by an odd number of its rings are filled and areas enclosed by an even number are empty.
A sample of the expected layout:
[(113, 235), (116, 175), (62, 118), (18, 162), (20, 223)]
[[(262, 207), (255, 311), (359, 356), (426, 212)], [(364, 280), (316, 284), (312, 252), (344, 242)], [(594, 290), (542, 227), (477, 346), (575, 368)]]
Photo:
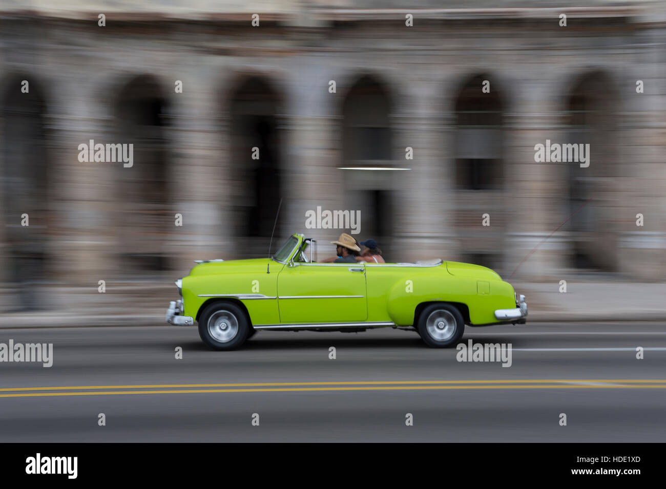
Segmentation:
[(107, 164), (117, 166), (117, 230), (123, 270), (135, 276), (168, 268), (165, 245), (174, 228), (174, 211), (168, 192), (167, 112), (168, 103), (157, 81), (150, 75), (136, 77), (123, 86), (117, 99), (118, 140), (105, 142), (133, 145), (131, 166)]

